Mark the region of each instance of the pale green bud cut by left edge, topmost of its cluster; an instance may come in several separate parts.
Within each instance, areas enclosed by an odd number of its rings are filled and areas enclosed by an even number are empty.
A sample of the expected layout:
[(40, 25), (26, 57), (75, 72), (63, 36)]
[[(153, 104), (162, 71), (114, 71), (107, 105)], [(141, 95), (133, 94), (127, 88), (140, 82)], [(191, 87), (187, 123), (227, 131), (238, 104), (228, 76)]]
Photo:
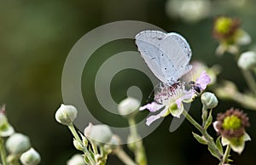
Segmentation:
[(0, 136), (7, 137), (15, 133), (15, 129), (9, 124), (7, 117), (0, 112)]

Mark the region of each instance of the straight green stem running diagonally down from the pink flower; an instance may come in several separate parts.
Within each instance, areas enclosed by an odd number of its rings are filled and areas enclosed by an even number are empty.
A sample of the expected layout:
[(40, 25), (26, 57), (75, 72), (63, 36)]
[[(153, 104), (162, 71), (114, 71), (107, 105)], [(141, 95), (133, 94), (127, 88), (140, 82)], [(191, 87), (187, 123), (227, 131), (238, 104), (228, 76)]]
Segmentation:
[(218, 147), (215, 145), (212, 137), (207, 133), (207, 130), (202, 128), (199, 123), (195, 122), (194, 118), (191, 117), (187, 111), (183, 111), (183, 116), (186, 117), (186, 119), (201, 132), (205, 139), (207, 139), (207, 145), (209, 146), (209, 148), (211, 148), (212, 151), (217, 154), (218, 159), (221, 160), (222, 154), (220, 153), (220, 151), (218, 151)]

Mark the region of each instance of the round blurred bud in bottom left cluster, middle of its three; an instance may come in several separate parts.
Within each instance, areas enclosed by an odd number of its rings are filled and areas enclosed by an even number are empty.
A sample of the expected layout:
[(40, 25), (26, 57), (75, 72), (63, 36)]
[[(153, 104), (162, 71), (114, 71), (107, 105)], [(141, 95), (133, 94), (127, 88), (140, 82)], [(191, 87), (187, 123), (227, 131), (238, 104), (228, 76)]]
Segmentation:
[(21, 154), (31, 147), (28, 137), (24, 134), (12, 134), (6, 141), (6, 149), (11, 154)]

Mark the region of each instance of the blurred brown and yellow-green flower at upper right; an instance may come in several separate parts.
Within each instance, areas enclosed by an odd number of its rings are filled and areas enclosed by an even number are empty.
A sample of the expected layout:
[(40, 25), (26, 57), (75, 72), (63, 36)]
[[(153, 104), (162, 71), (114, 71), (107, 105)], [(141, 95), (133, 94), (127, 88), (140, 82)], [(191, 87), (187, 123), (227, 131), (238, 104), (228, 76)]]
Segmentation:
[(212, 35), (219, 42), (217, 54), (224, 54), (225, 51), (237, 54), (238, 45), (251, 43), (251, 37), (240, 28), (240, 20), (230, 17), (218, 17), (214, 21)]

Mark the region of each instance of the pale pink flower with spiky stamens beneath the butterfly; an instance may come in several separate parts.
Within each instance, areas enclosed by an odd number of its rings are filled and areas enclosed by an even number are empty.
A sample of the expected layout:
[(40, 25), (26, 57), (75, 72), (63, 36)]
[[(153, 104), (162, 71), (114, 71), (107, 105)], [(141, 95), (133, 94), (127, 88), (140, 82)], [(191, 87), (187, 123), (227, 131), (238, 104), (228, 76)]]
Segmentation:
[[(210, 77), (206, 71), (203, 71), (201, 76), (196, 79), (195, 85), (201, 90), (204, 90), (210, 82)], [(160, 84), (159, 91), (154, 94), (154, 102), (143, 105), (139, 110), (148, 109), (150, 112), (161, 110), (159, 114), (147, 118), (146, 124), (149, 126), (155, 120), (160, 117), (166, 117), (170, 113), (173, 117), (180, 117), (184, 110), (182, 102), (190, 103), (195, 97), (195, 88), (189, 88), (187, 90), (184, 83), (174, 83), (172, 86)]]

